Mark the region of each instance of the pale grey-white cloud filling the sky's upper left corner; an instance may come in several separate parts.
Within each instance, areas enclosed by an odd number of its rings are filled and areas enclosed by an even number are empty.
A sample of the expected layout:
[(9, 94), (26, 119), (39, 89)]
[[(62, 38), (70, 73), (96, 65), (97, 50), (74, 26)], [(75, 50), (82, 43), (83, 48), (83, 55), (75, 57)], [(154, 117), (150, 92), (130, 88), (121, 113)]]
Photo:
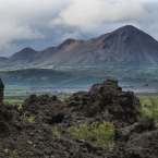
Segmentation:
[(15, 40), (44, 38), (40, 27), (46, 27), (61, 7), (56, 0), (0, 0), (0, 50)]

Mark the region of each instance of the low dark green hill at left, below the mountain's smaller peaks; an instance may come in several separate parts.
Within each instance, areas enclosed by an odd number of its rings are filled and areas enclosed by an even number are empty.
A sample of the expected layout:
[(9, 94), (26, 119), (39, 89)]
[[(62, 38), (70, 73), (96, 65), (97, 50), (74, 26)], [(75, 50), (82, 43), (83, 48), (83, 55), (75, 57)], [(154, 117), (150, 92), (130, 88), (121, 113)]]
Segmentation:
[(7, 85), (56, 85), (72, 78), (72, 74), (50, 69), (24, 69), (0, 72), (0, 78)]

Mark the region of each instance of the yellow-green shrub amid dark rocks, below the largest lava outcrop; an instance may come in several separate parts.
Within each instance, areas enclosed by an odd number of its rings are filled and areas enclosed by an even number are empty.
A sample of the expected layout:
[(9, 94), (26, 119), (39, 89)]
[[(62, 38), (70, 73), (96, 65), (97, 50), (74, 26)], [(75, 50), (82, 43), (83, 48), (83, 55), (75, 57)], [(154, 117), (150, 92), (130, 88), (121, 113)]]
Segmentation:
[(85, 139), (97, 146), (114, 146), (114, 125), (109, 121), (80, 124), (78, 127), (70, 127), (70, 134), (78, 139)]

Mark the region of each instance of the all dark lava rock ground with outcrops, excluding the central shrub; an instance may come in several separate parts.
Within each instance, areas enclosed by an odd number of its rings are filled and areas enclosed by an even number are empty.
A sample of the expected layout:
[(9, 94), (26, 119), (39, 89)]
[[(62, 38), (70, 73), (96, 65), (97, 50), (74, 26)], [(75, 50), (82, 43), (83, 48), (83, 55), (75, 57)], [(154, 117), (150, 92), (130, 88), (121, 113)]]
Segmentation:
[[(0, 83), (0, 158), (158, 158), (158, 129), (142, 118), (138, 98), (108, 80), (66, 102), (29, 96), (20, 107), (4, 106)], [(70, 126), (95, 121), (114, 124), (114, 147), (73, 138)]]

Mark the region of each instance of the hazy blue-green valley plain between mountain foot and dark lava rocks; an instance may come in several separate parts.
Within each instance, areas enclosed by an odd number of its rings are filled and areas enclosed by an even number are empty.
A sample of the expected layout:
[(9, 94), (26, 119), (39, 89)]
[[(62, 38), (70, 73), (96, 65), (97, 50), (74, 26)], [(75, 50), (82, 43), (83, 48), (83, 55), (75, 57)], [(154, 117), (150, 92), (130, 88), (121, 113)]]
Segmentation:
[(5, 84), (4, 97), (8, 99), (25, 99), (32, 94), (72, 95), (78, 90), (88, 90), (93, 84), (108, 78), (119, 81), (124, 90), (137, 95), (158, 93), (158, 68), (148, 69), (26, 69), (0, 72)]

